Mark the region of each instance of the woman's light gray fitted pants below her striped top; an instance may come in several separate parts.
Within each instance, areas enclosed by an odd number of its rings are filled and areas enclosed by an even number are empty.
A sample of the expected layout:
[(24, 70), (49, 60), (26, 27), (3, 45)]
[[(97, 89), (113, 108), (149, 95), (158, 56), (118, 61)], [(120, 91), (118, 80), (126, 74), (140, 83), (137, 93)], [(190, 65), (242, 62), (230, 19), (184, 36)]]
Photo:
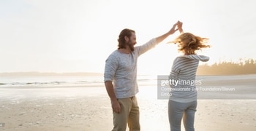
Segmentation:
[(168, 116), (171, 131), (181, 131), (181, 119), (183, 119), (186, 131), (195, 131), (195, 111), (197, 101), (179, 103), (173, 100), (168, 102)]

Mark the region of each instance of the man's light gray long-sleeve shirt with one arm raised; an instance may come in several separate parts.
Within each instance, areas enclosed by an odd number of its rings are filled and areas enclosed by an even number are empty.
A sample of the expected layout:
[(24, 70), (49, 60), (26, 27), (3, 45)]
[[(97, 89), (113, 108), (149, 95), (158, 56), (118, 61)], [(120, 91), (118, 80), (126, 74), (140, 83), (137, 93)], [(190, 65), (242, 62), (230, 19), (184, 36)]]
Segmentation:
[(129, 54), (115, 50), (105, 61), (104, 82), (113, 82), (116, 98), (129, 98), (138, 93), (137, 60), (140, 55), (157, 45), (156, 39), (135, 47)]

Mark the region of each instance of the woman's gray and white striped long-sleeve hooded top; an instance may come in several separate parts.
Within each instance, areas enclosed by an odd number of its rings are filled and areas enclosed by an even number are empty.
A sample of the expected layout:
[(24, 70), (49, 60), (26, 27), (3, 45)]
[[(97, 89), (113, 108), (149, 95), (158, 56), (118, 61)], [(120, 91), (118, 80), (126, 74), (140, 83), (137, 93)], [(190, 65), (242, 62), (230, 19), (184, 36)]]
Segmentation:
[(176, 81), (176, 85), (170, 85), (170, 100), (189, 103), (197, 100), (195, 80), (199, 61), (206, 62), (209, 57), (204, 55), (181, 55), (173, 62), (169, 80)]

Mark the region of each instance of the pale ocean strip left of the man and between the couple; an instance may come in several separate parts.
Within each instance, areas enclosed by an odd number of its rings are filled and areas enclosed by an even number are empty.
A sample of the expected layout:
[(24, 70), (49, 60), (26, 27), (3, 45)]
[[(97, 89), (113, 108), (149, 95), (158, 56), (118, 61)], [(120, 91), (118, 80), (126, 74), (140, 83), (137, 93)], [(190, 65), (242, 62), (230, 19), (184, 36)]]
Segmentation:
[[(138, 83), (157, 84), (157, 76), (139, 75)], [(0, 76), (1, 87), (98, 87), (104, 84), (103, 76)]]

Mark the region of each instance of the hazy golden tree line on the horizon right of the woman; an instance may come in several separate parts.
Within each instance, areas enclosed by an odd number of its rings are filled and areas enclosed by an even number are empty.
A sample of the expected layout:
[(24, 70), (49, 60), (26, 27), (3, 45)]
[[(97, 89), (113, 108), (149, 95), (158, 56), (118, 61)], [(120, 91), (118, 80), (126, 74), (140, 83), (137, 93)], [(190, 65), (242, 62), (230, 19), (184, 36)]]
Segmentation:
[(239, 63), (222, 62), (213, 65), (199, 65), (197, 75), (239, 75), (256, 74), (256, 60), (248, 59)]

